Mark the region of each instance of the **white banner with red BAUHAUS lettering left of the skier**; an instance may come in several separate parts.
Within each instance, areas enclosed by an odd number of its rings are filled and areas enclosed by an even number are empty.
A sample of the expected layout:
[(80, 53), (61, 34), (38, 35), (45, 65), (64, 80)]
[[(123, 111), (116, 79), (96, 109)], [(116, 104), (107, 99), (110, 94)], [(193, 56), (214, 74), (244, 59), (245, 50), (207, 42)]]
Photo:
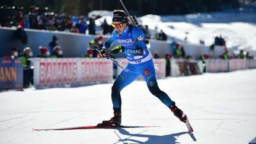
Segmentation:
[(33, 59), (34, 87), (79, 87), (110, 82), (113, 63), (107, 59), (59, 58)]

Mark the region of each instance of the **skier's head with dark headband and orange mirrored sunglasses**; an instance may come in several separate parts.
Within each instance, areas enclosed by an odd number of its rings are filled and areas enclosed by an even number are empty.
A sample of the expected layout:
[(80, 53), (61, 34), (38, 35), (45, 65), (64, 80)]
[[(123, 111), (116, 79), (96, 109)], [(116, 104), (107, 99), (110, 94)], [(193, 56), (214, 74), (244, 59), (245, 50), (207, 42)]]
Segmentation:
[(121, 34), (127, 27), (127, 15), (123, 10), (114, 10), (113, 14), (112, 26)]

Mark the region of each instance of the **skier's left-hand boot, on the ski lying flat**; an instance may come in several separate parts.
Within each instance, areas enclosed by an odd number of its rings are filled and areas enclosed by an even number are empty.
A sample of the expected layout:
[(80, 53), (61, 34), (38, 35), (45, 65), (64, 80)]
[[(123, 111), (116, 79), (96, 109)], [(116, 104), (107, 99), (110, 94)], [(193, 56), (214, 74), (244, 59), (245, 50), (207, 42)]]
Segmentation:
[(114, 111), (114, 117), (110, 120), (104, 120), (102, 123), (99, 123), (97, 126), (113, 126), (119, 127), (121, 124), (121, 112)]

